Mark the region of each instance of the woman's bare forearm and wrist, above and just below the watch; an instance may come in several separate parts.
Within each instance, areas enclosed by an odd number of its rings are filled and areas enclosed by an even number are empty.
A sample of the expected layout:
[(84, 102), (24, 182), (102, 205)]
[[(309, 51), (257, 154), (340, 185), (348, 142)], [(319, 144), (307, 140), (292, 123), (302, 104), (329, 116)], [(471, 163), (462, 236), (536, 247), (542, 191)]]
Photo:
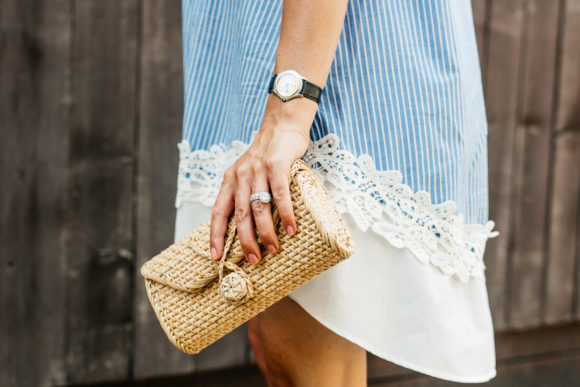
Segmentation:
[[(347, 0), (284, 0), (272, 75), (292, 69), (324, 88), (344, 25), (347, 3)], [(271, 93), (266, 116), (295, 120), (302, 127), (308, 126), (307, 130), (317, 109), (318, 104), (308, 98), (282, 102)]]

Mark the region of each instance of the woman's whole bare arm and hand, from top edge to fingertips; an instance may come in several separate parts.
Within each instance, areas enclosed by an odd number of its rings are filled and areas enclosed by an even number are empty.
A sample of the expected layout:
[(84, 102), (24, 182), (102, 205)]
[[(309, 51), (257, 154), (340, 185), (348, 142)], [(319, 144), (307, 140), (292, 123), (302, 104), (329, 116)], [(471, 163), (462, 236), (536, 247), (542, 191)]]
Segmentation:
[[(284, 1), (274, 74), (293, 69), (324, 89), (347, 4), (347, 0)], [(261, 258), (255, 227), (266, 248), (270, 252), (278, 251), (271, 204), (254, 201), (250, 205), (250, 195), (256, 192), (271, 191), (284, 230), (289, 235), (296, 232), (288, 186), (290, 166), (308, 148), (317, 110), (318, 104), (305, 97), (282, 102), (275, 94), (268, 95), (257, 136), (224, 173), (211, 214), (210, 254), (213, 259), (222, 255), (232, 210), (235, 210), (240, 243), (248, 261), (255, 264)]]

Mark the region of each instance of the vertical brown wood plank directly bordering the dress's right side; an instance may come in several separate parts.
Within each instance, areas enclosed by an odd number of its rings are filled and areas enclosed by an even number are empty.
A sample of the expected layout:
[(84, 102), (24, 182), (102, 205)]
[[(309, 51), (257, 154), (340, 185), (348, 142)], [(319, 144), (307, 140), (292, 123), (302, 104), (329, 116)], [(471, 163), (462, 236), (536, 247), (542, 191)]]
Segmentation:
[(490, 218), (499, 238), (488, 242), (486, 277), (496, 330), (507, 327), (508, 241), (518, 74), (520, 68), (523, 1), (491, 3), (489, 56), (485, 99), (489, 123)]

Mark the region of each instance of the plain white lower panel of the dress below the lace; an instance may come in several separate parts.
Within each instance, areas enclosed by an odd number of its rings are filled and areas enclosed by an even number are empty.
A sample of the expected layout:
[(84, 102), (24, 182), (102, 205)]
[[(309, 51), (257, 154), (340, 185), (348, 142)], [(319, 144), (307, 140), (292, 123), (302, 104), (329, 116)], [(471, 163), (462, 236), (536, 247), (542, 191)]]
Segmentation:
[[(211, 216), (186, 201), (175, 240)], [(465, 284), (406, 248), (396, 248), (347, 213), (355, 252), (289, 297), (339, 336), (413, 371), (460, 383), (496, 375), (494, 332), (484, 280)]]

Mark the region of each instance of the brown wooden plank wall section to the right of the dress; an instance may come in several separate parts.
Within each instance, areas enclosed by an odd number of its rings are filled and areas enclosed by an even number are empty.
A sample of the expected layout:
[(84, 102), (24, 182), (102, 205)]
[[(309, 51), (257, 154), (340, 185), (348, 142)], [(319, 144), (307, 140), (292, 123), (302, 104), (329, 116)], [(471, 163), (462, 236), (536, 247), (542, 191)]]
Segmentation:
[(578, 321), (580, 2), (474, 1), (489, 122), (496, 328)]

